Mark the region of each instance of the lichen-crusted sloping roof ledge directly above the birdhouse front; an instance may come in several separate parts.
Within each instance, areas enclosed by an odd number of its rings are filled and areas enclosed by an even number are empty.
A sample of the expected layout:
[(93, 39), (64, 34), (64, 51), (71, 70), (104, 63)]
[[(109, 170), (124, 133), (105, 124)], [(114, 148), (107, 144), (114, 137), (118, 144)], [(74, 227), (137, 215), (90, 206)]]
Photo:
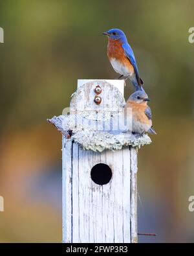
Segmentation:
[[(96, 130), (96, 122), (84, 119), (81, 115), (60, 115), (48, 119), (65, 137), (78, 143), (85, 150), (93, 150), (94, 152), (102, 152), (103, 150), (120, 150), (124, 146), (133, 146), (140, 148), (144, 145), (149, 145), (151, 139), (147, 134), (136, 137), (130, 132), (118, 132), (113, 134), (113, 131)], [(99, 124), (100, 121), (97, 122)], [(103, 122), (102, 122), (103, 124)]]

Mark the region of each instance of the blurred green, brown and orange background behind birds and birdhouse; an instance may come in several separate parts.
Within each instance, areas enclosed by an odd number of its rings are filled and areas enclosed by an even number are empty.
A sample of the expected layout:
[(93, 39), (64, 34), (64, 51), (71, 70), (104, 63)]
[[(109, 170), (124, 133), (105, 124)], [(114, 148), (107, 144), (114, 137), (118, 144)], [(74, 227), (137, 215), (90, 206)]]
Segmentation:
[[(194, 2), (0, 2), (0, 242), (61, 242), (61, 135), (46, 119), (78, 78), (114, 79), (111, 28), (125, 31), (151, 98), (153, 143), (139, 150), (140, 242), (194, 242)], [(130, 82), (125, 99), (132, 93)]]

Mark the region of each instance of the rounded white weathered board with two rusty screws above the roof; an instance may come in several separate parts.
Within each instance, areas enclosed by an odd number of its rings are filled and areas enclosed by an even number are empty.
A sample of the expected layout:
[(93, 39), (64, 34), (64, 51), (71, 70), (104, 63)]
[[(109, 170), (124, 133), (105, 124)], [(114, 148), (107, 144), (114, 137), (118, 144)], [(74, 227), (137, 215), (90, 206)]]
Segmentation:
[[(122, 112), (125, 104), (124, 80), (116, 80), (114, 84), (121, 89), (119, 90), (107, 80), (89, 80), (78, 86), (70, 101), (70, 114), (81, 114), (85, 118), (102, 121)], [(94, 102), (96, 86), (102, 88), (102, 93), (99, 95), (102, 99), (100, 104)]]

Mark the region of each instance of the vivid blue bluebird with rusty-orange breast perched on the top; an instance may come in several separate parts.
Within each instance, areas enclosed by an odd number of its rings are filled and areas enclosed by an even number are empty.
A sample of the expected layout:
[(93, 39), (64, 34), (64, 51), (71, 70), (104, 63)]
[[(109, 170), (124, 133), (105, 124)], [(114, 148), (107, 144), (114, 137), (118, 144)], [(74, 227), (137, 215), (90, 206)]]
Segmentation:
[(120, 29), (111, 29), (103, 32), (103, 34), (109, 37), (107, 55), (114, 71), (120, 74), (119, 78), (122, 76), (129, 77), (136, 91), (144, 91), (142, 88), (144, 82), (138, 73), (135, 55), (127, 42), (124, 32)]

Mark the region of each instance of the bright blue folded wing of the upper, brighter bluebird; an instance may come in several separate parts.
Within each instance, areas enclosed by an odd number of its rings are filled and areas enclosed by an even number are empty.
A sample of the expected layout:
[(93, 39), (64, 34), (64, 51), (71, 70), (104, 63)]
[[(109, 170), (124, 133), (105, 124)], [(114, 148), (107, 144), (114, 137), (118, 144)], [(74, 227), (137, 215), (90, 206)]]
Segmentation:
[(139, 72), (138, 72), (138, 67), (136, 65), (135, 55), (133, 53), (133, 50), (131, 49), (131, 46), (129, 45), (129, 43), (124, 43), (122, 45), (122, 47), (124, 49), (125, 56), (129, 59), (129, 61), (131, 62), (131, 64), (134, 67), (136, 80), (138, 82), (138, 86), (142, 86), (142, 84), (144, 84), (144, 82), (140, 78), (140, 75), (139, 75)]

